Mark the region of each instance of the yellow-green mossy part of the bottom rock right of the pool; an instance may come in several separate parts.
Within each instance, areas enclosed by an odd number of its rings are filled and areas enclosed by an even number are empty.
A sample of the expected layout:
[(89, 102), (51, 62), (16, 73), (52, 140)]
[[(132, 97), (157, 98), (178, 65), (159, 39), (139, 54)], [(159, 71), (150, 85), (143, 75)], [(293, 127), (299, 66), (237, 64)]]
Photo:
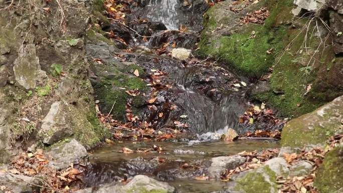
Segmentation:
[[(242, 191), (245, 193), (270, 193), (275, 192), (276, 185), (276, 174), (272, 171), (269, 166), (264, 166), (262, 171), (255, 169), (248, 172), (242, 178), (237, 180), (235, 190)], [(274, 191), (273, 191), (274, 189)]]

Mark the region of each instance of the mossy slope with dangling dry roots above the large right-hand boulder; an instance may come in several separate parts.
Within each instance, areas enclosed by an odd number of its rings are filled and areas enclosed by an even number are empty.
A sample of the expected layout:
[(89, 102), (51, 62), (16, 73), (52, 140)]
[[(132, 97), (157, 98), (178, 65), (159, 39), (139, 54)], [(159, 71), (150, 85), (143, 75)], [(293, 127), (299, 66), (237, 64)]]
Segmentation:
[(306, 33), (307, 27), (315, 30), (314, 22), (304, 20), (294, 26), (287, 31), (285, 50), (275, 60), (270, 79), (272, 90), (252, 96), (287, 117), (311, 112), (343, 94), (343, 85), (333, 80), (343, 77), (340, 57), (334, 56), (331, 46), (324, 47), (320, 37)]

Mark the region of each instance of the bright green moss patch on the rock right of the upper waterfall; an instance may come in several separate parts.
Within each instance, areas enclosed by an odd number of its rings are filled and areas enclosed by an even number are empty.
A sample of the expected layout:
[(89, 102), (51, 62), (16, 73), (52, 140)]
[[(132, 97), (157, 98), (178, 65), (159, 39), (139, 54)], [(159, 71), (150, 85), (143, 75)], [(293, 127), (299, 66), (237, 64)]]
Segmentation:
[(282, 38), (286, 29), (280, 27), (271, 31), (261, 26), (252, 25), (256, 37), (249, 39), (251, 31), (242, 34), (224, 36), (220, 39), (221, 48), (218, 55), (221, 60), (231, 64), (239, 72), (250, 77), (260, 77), (268, 72), (274, 63), (274, 55), (269, 49), (279, 52), (282, 49)]

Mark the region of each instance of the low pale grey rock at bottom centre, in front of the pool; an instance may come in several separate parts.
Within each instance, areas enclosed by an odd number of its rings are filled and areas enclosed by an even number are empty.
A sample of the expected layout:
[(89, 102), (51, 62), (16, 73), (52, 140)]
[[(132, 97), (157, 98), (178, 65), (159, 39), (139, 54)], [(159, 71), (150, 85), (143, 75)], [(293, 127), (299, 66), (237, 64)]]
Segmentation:
[(174, 193), (175, 187), (166, 182), (160, 182), (145, 175), (136, 175), (125, 185), (104, 184), (97, 189), (86, 188), (76, 191), (76, 193), (141, 193), (141, 192), (160, 192)]

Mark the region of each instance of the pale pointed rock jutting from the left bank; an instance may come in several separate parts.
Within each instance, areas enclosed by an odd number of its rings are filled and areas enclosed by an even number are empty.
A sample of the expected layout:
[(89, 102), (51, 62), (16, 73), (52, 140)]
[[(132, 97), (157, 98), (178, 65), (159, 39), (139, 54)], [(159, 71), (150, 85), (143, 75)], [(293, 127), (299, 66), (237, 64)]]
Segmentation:
[(70, 123), (68, 113), (63, 109), (63, 103), (59, 101), (51, 104), (48, 114), (42, 120), (39, 132), (43, 143), (53, 144), (71, 136), (73, 129)]

